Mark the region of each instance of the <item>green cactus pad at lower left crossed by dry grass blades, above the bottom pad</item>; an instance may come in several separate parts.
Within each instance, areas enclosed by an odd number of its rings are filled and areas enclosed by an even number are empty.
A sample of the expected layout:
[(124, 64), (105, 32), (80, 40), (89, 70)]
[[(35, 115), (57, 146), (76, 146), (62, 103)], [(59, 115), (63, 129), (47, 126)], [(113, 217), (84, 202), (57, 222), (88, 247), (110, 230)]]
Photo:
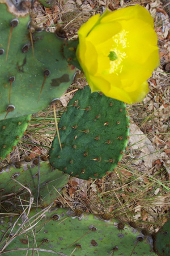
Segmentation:
[[(39, 159), (29, 160), (30, 162), (19, 162), (4, 167), (0, 173), (1, 203), (6, 200), (13, 202), (16, 207), (19, 203), (19, 196), (24, 201), (29, 201), (30, 193), (19, 183), (31, 189), (34, 199), (37, 199), (38, 185), (38, 162)], [(67, 184), (69, 175), (54, 170), (48, 161), (40, 161), (40, 191), (39, 204), (49, 205), (57, 199), (61, 188)], [(15, 181), (16, 180), (16, 181)], [(9, 196), (10, 195), (10, 196)], [(18, 203), (17, 203), (18, 202)]]

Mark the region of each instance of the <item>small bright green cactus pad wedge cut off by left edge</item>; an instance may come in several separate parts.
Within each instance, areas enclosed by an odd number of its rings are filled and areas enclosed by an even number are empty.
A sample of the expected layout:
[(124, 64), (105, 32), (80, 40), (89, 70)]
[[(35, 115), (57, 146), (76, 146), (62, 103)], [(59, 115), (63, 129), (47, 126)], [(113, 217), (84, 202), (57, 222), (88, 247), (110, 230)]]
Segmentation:
[(0, 121), (0, 161), (18, 144), (30, 120), (31, 115), (23, 115)]

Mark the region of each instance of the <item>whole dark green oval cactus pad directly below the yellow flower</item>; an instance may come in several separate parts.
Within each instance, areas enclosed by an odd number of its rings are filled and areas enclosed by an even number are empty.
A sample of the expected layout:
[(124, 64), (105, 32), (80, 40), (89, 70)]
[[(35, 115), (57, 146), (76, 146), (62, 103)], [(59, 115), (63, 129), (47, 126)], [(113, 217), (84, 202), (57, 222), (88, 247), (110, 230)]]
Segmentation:
[(59, 137), (50, 148), (50, 163), (80, 179), (101, 178), (120, 162), (129, 136), (124, 102), (78, 90), (59, 121)]

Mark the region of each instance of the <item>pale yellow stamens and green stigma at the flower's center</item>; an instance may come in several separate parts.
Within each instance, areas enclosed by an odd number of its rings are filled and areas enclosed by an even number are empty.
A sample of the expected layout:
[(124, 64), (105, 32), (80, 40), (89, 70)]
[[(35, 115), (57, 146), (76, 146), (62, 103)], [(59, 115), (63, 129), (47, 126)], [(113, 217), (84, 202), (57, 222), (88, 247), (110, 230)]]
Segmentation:
[(116, 75), (122, 72), (122, 61), (126, 58), (125, 48), (129, 47), (127, 42), (128, 31), (122, 30), (120, 33), (112, 37), (113, 44), (112, 49), (109, 52), (110, 69), (109, 73), (116, 73)]

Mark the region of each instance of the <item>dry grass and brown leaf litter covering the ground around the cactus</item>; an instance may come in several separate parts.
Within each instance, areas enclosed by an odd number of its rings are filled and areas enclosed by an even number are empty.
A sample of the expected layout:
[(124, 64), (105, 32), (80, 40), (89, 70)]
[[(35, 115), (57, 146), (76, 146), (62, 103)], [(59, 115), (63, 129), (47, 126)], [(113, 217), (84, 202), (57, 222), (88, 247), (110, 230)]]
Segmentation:
[[(167, 5), (160, 1), (57, 1), (52, 10), (37, 5), (36, 23), (50, 31), (62, 27), (67, 38), (76, 38), (80, 25), (91, 15), (103, 13), (106, 7), (116, 10), (134, 3), (147, 7), (154, 16), (161, 65), (149, 80), (150, 93), (145, 100), (128, 106), (133, 124), (129, 148), (117, 170), (103, 179), (84, 181), (70, 178), (56, 204), (59, 207), (71, 206), (86, 212), (109, 214), (126, 221), (135, 220), (142, 227), (158, 230), (170, 217), (170, 44), (167, 34), (169, 20), (165, 11)], [(85, 84), (86, 80), (78, 78), (67, 92)], [(69, 97), (70, 94), (67, 94), (63, 104)], [(63, 106), (57, 108), (58, 119), (62, 109)], [(30, 156), (31, 152), (48, 155), (55, 133), (53, 109), (48, 108), (33, 115), (27, 133), (15, 152), (8, 155), (1, 164), (16, 162)]]

